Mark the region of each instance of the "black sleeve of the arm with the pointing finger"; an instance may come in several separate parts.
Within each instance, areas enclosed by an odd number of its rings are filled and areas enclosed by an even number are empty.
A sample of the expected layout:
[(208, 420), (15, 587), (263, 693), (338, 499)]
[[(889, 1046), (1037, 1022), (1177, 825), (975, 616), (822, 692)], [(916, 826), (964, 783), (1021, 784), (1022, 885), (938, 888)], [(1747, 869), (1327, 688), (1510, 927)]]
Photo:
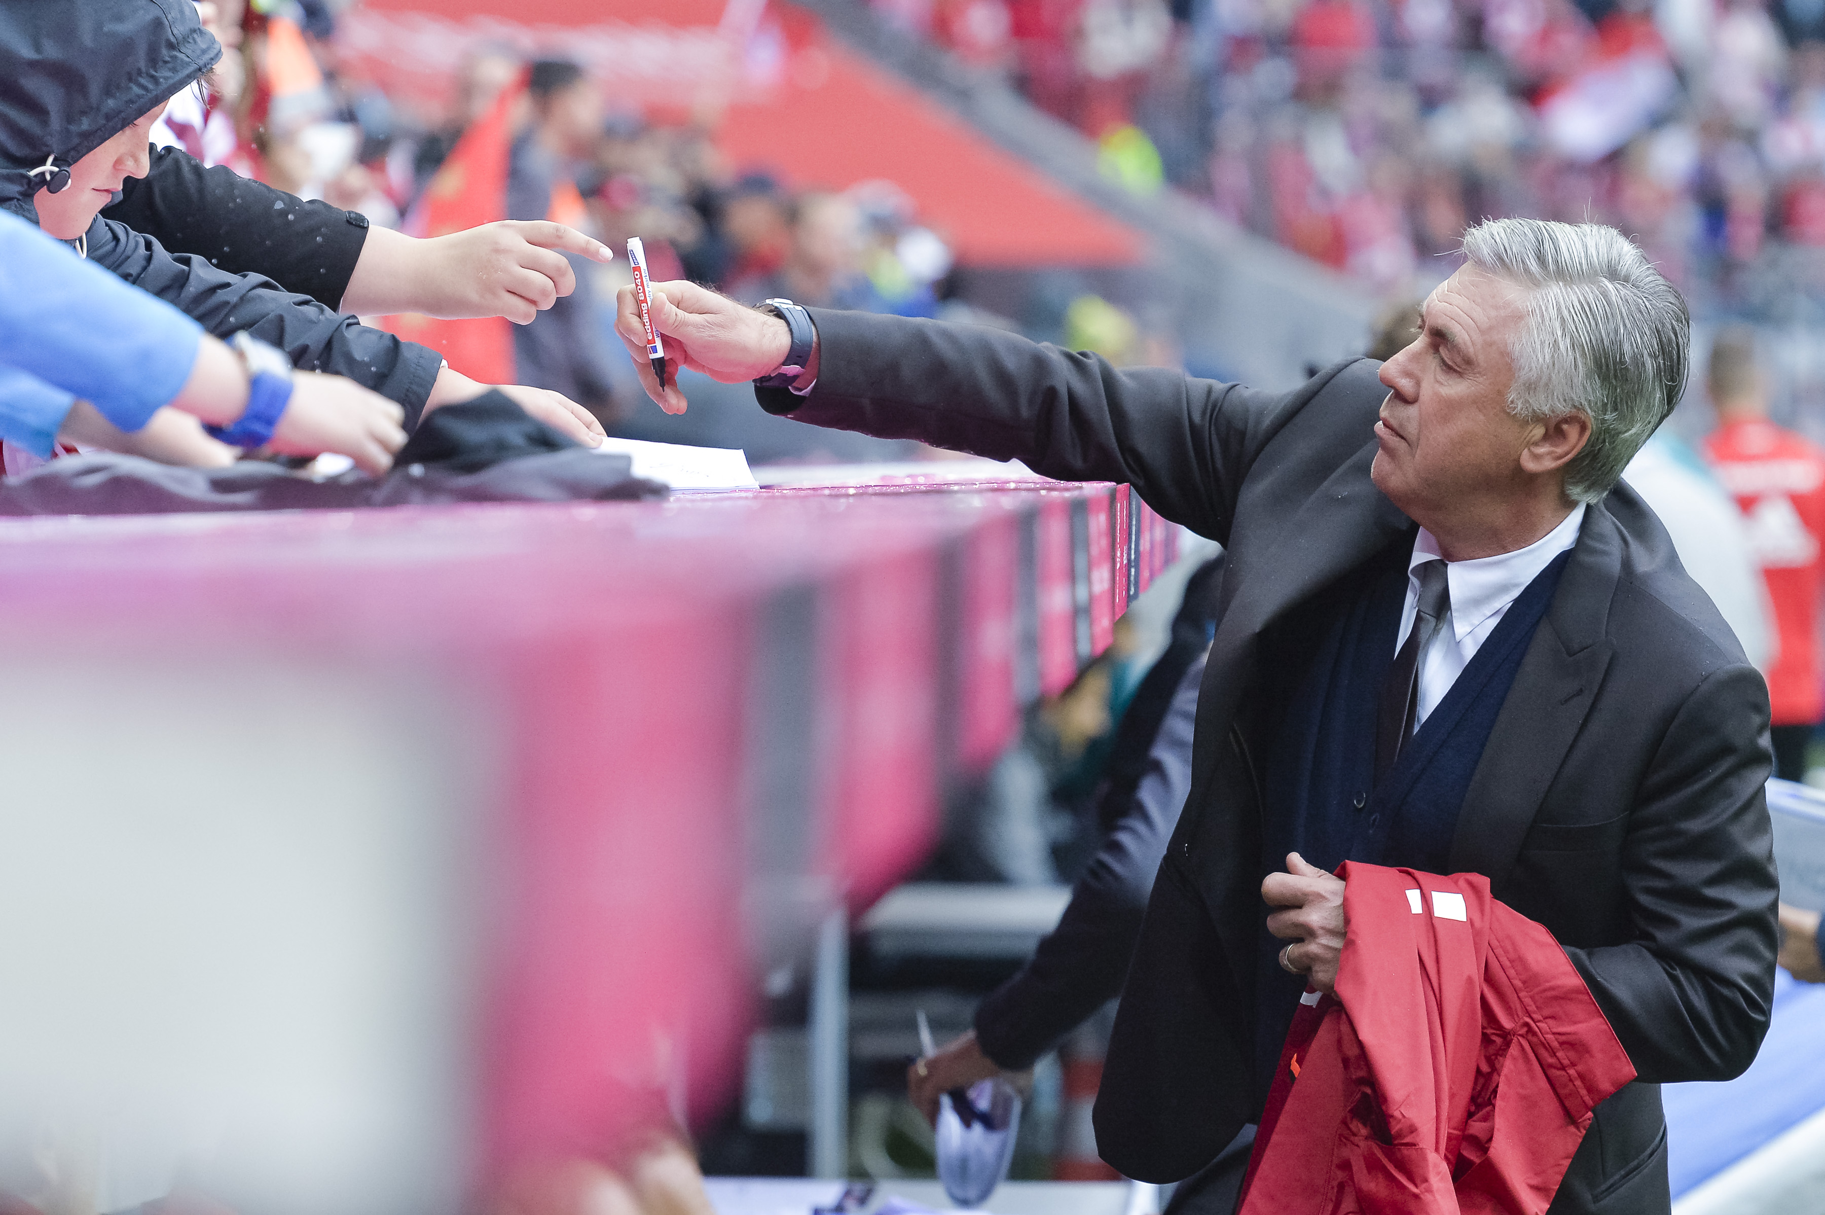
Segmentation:
[(338, 312), (367, 243), (360, 212), (308, 202), (224, 166), (203, 168), (179, 148), (153, 148), (146, 177), (130, 177), (102, 219), (228, 274), (261, 274)]

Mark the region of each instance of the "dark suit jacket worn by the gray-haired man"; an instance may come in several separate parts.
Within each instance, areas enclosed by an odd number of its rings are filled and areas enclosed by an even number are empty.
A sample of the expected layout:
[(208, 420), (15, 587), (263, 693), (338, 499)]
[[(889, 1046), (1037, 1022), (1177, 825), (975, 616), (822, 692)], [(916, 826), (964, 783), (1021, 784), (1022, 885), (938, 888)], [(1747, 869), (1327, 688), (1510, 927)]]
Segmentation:
[[(1272, 722), (1252, 691), (1288, 673), (1261, 670), (1263, 629), (1414, 531), (1369, 480), (1378, 363), (1340, 363), (1281, 396), (1115, 370), (986, 328), (812, 316), (816, 389), (761, 392), (765, 407), (1128, 482), (1228, 549), (1192, 794), (1097, 1098), (1110, 1164), (1186, 1177), (1265, 1096), (1252, 1082), (1257, 764)], [(1628, 487), (1591, 504), (1451, 846), (1453, 870), (1486, 874), (1564, 945), (1641, 1076), (1599, 1107), (1555, 1211), (1664, 1211), (1657, 1085), (1725, 1080), (1756, 1056), (1776, 954), (1767, 728), (1761, 675), (1653, 513)]]

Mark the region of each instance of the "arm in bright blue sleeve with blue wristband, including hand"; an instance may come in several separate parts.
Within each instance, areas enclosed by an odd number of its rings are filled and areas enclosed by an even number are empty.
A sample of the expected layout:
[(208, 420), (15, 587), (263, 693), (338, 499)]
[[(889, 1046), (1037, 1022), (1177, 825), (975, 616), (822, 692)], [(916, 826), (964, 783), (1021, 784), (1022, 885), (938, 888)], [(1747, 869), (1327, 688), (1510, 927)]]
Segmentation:
[[(177, 308), (0, 212), (0, 438), (38, 456), (62, 436), (159, 458), (182, 410), (230, 436), (263, 427), (252, 447), (339, 452), (374, 476), (405, 443), (400, 407), (378, 392), (290, 365), (287, 383), (256, 390), (254, 370)], [(250, 405), (266, 414), (248, 418)]]

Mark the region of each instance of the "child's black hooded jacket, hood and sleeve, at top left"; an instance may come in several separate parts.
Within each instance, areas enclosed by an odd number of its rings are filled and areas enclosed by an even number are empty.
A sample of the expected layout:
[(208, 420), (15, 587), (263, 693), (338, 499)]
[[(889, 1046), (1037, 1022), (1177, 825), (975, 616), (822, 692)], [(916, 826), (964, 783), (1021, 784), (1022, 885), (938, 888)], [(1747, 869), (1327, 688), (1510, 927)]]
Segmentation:
[[(0, 0), (0, 206), (38, 221), (33, 195), (221, 58), (188, 0)], [(40, 170), (33, 175), (33, 170)], [(305, 370), (349, 376), (418, 423), (442, 359), (354, 317), (230, 274), (97, 217), (88, 255), (217, 338), (248, 330)]]

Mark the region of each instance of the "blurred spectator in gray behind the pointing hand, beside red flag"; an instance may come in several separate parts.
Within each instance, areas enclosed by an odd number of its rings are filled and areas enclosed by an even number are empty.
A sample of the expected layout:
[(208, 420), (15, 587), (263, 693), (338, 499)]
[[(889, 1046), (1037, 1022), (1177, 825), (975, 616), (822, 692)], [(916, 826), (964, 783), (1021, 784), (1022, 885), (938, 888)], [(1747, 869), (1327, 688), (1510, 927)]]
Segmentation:
[[(582, 68), (548, 58), (533, 64), (526, 93), (531, 122), (513, 144), (507, 170), (507, 219), (549, 219), (586, 226), (577, 166), (591, 161), (602, 139), (602, 93)], [(569, 257), (569, 255), (566, 255)], [(522, 383), (551, 389), (597, 418), (617, 416), (615, 370), (589, 286), (589, 266), (569, 257), (577, 290), (533, 323), (513, 330)]]

